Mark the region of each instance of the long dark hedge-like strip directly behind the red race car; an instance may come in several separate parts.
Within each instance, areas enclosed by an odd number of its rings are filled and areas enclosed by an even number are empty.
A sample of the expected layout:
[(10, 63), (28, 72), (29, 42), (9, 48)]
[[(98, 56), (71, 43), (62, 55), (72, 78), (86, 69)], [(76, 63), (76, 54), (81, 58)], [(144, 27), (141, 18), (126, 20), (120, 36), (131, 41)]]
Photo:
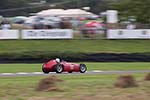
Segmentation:
[(0, 54), (0, 63), (43, 63), (57, 57), (72, 62), (150, 62), (150, 52), (82, 53), (68, 51), (26, 51)]

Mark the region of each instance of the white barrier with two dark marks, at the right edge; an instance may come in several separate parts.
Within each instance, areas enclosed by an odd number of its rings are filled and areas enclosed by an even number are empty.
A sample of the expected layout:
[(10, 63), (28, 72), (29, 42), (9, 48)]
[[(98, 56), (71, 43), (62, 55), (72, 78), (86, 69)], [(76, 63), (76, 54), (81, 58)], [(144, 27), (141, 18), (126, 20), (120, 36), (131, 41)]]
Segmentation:
[(150, 39), (150, 29), (110, 29), (107, 39)]

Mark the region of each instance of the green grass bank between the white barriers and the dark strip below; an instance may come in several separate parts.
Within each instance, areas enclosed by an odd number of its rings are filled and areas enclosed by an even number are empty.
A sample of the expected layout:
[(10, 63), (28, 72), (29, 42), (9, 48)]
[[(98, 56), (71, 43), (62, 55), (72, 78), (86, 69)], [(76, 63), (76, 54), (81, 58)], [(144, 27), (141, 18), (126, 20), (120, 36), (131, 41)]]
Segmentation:
[(25, 51), (84, 53), (150, 52), (149, 40), (1, 40), (0, 54)]

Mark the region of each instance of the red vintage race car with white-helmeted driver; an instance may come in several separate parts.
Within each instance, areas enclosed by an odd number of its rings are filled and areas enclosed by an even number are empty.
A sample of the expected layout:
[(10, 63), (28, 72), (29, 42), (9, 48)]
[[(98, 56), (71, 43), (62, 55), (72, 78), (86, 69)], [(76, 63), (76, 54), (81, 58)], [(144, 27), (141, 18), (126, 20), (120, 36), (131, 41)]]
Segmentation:
[(45, 74), (48, 74), (49, 72), (56, 72), (56, 73), (62, 73), (62, 72), (80, 72), (85, 73), (87, 70), (87, 67), (85, 64), (76, 64), (76, 63), (70, 63), (66, 61), (60, 61), (60, 59), (52, 59), (48, 61), (47, 63), (44, 63), (42, 66), (42, 71)]

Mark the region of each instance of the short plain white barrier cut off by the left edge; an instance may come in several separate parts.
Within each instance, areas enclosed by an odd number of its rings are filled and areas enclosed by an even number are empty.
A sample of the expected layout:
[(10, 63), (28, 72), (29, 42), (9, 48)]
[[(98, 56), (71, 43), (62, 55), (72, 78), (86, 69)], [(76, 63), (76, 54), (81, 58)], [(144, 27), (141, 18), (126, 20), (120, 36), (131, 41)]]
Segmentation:
[(19, 30), (0, 30), (0, 39), (19, 39)]

